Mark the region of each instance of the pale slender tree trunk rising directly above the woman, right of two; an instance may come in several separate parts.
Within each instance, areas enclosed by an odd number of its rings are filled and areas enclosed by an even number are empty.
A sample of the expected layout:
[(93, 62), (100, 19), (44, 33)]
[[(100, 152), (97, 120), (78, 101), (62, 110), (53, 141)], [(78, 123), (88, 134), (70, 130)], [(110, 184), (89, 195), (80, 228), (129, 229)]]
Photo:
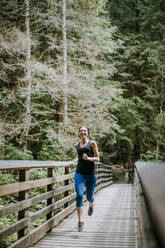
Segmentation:
[(68, 84), (67, 84), (67, 47), (66, 47), (66, 1), (63, 0), (63, 49), (64, 49), (64, 125), (68, 123)]

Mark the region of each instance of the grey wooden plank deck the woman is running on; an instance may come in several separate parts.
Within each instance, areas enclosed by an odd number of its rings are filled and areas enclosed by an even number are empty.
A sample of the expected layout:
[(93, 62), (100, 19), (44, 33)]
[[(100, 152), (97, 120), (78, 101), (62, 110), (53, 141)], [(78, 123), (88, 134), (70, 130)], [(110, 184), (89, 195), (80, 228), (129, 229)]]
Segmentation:
[(40, 240), (35, 248), (135, 248), (138, 245), (134, 186), (113, 184), (96, 193), (93, 216), (84, 206), (84, 231), (77, 231), (76, 213)]

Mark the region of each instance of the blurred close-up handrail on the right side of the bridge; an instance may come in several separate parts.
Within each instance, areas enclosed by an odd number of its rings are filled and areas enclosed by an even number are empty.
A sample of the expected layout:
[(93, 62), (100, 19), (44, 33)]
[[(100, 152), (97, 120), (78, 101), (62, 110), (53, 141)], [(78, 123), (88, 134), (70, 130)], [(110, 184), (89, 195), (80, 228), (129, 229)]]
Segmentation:
[(165, 163), (138, 161), (135, 168), (141, 247), (165, 247)]

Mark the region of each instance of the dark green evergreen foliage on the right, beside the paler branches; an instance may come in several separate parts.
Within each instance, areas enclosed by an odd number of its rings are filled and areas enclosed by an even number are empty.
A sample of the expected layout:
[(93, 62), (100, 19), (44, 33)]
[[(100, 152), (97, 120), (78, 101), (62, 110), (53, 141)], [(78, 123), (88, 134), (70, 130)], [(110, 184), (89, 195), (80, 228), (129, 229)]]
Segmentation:
[[(156, 150), (160, 139), (159, 154), (165, 148), (162, 144), (163, 123), (156, 121), (160, 109), (164, 112), (164, 15), (162, 1), (108, 1), (107, 9), (112, 23), (117, 25), (124, 44), (114, 56), (124, 99), (117, 112), (119, 124), (125, 129), (124, 139), (131, 145), (134, 160), (148, 150)], [(161, 48), (160, 48), (161, 47)], [(160, 51), (159, 51), (160, 50)], [(118, 136), (119, 150), (124, 159), (123, 135)], [(163, 148), (164, 147), (164, 148)], [(153, 155), (154, 157), (155, 155)]]

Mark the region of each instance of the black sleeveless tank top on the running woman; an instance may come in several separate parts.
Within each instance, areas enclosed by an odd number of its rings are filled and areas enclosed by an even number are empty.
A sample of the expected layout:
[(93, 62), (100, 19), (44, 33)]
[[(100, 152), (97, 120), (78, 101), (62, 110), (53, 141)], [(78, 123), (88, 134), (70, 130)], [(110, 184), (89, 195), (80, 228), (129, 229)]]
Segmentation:
[(83, 153), (86, 153), (88, 157), (94, 157), (94, 152), (90, 141), (88, 141), (87, 145), (84, 147), (80, 147), (80, 143), (78, 143), (77, 146), (78, 163), (77, 163), (76, 172), (79, 172), (84, 175), (96, 174), (95, 163), (88, 160), (84, 160), (82, 158)]

